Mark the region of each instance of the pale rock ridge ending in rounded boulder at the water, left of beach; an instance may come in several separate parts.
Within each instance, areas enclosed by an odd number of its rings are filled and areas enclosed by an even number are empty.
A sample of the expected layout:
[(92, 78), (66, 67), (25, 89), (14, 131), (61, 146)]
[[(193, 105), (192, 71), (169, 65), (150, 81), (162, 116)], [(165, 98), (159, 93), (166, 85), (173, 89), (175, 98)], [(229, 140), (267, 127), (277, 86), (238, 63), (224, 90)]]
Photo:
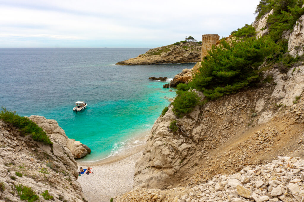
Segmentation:
[(67, 138), (64, 130), (58, 125), (57, 121), (52, 119), (46, 119), (43, 116), (33, 115), (30, 116), (29, 119), (35, 122), (45, 132), (47, 132), (50, 137), (50, 140), (55, 143), (55, 147), (57, 147), (57, 144), (63, 145), (70, 151), (69, 153), (71, 153), (71, 156), (73, 156), (75, 159), (82, 158), (88, 153), (91, 153), (91, 150), (90, 148), (88, 148), (88, 146), (82, 144), (79, 141), (75, 141), (74, 139)]

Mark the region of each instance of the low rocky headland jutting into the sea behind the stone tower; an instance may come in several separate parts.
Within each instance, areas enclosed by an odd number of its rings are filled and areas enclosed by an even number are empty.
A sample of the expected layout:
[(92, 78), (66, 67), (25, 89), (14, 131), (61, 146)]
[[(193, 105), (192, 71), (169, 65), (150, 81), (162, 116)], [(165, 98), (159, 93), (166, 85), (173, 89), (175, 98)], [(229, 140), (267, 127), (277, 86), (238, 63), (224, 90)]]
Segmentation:
[(201, 45), (196, 42), (181, 42), (148, 50), (136, 58), (117, 62), (116, 65), (149, 65), (162, 63), (188, 63), (201, 60)]

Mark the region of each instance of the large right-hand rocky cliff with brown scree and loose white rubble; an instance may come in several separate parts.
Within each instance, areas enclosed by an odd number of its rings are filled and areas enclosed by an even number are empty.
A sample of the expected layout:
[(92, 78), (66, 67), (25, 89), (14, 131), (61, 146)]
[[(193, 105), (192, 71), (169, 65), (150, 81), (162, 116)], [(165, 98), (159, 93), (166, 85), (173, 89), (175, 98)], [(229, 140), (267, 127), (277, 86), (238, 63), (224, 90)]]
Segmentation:
[[(254, 23), (257, 37), (267, 34), (269, 15)], [(292, 56), (302, 54), (303, 17), (282, 36)], [(259, 86), (196, 106), (183, 118), (169, 106), (136, 163), (135, 188), (116, 201), (303, 201), (303, 71), (303, 62), (287, 71), (274, 67)], [(169, 129), (172, 120), (177, 132)], [(270, 163), (277, 156), (289, 157)]]

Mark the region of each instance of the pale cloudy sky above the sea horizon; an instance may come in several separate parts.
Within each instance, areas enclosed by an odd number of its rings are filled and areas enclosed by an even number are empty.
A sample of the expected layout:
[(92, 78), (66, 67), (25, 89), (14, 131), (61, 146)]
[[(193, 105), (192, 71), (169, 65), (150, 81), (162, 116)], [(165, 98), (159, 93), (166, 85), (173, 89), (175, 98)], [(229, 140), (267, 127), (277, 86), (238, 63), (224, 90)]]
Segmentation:
[(220, 38), (259, 0), (0, 0), (0, 47), (159, 47)]

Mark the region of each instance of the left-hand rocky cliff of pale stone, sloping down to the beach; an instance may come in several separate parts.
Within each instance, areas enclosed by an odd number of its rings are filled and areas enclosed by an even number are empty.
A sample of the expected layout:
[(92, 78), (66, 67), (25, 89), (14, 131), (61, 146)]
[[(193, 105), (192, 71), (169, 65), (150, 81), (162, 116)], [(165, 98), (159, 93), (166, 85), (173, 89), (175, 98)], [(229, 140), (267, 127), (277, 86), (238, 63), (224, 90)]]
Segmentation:
[[(22, 192), (18, 194), (18, 185), (31, 188), (40, 201), (47, 201), (41, 195), (45, 190), (54, 201), (87, 201), (77, 181), (74, 160), (75, 154), (81, 156), (85, 151), (71, 152), (67, 145), (75, 141), (67, 138), (55, 120), (29, 118), (47, 132), (53, 145), (20, 136), (17, 128), (0, 120), (0, 201), (20, 201)], [(72, 145), (79, 147), (78, 143)]]

